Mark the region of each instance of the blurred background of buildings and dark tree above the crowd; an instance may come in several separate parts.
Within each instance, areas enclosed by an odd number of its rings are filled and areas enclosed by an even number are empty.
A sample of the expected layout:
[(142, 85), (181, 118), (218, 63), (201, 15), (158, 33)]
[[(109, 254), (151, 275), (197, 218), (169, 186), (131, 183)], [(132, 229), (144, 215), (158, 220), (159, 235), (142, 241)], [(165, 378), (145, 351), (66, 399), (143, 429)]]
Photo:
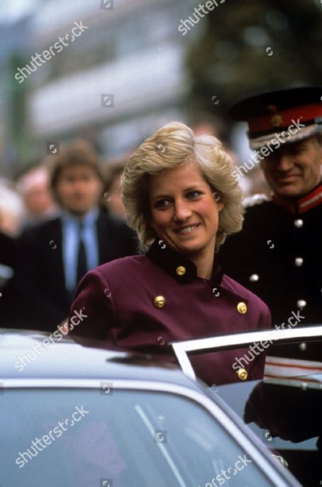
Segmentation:
[[(229, 106), (248, 94), (321, 84), (321, 0), (211, 0), (211, 11), (194, 16), (206, 3), (0, 1), (1, 231), (21, 228), (22, 175), (65, 142), (83, 138), (101, 160), (126, 159), (177, 120), (218, 135), (243, 164), (245, 127), (232, 123)], [(79, 37), (31, 62), (76, 24), (84, 26)], [(256, 167), (241, 184), (246, 196), (267, 192)]]

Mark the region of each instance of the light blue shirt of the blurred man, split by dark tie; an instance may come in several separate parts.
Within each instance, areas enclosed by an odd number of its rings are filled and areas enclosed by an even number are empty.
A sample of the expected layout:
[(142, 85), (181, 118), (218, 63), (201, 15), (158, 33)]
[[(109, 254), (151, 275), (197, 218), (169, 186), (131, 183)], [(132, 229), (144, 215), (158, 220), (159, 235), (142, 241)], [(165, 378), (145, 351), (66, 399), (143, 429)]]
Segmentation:
[[(94, 269), (99, 265), (99, 244), (96, 232), (98, 216), (99, 210), (94, 208), (82, 218), (82, 240), (85, 245), (88, 269)], [(79, 220), (80, 218), (67, 211), (62, 212), (62, 262), (64, 264), (65, 286), (68, 291), (74, 291), (77, 284)]]

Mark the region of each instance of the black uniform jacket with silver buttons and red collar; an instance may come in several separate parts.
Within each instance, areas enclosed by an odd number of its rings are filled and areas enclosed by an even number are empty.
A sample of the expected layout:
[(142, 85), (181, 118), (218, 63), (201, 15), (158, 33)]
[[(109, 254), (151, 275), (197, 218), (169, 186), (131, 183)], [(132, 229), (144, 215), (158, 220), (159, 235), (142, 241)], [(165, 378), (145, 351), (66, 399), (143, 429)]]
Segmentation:
[(274, 325), (299, 310), (300, 325), (322, 323), (322, 184), (287, 206), (273, 198), (247, 208), (218, 262), (268, 304)]

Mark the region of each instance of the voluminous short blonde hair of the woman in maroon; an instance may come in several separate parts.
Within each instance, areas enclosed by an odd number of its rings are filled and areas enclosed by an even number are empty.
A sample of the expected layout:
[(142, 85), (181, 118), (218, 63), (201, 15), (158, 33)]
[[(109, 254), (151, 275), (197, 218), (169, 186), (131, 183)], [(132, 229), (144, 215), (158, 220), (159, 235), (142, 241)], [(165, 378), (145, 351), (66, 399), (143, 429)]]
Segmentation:
[(196, 137), (184, 123), (171, 122), (157, 130), (133, 152), (122, 176), (126, 220), (138, 233), (141, 250), (147, 250), (157, 237), (149, 223), (149, 178), (179, 167), (184, 162), (192, 162), (199, 167), (205, 181), (224, 203), (219, 213), (216, 250), (227, 235), (242, 228), (243, 196), (233, 177), (233, 161), (223, 150), (220, 140), (212, 135)]

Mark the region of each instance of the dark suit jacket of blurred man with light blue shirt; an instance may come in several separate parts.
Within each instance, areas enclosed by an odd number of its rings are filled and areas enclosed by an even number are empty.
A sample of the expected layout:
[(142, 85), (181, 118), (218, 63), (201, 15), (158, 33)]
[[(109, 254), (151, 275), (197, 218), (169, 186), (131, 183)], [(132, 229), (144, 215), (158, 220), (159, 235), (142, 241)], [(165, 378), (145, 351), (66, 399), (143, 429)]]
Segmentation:
[[(100, 264), (136, 253), (134, 233), (121, 220), (101, 211), (96, 231)], [(60, 218), (23, 232), (18, 240), (15, 281), (20, 308), (17, 328), (52, 331), (67, 318), (72, 296), (65, 287)]]

